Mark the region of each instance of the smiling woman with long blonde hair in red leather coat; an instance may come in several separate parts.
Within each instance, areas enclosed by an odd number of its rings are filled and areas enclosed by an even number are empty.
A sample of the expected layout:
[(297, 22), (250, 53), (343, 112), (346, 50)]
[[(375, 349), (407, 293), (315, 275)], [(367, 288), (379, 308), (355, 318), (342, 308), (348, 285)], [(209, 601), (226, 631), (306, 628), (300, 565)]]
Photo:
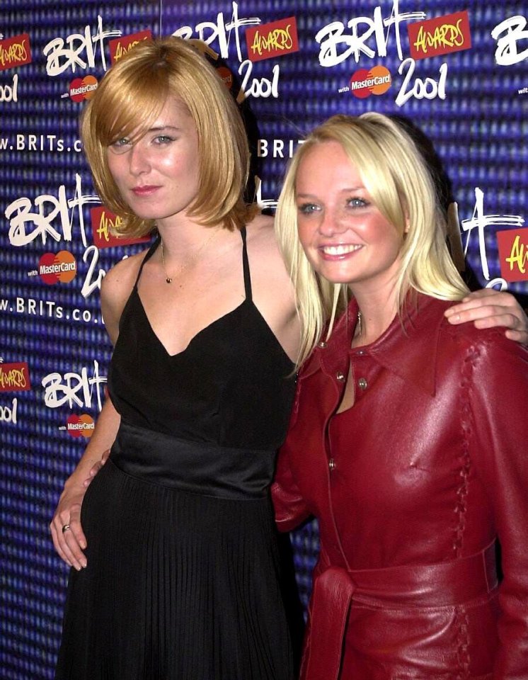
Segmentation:
[(275, 225), (314, 348), (272, 487), (282, 530), (319, 523), (301, 679), (527, 677), (528, 351), (447, 322), (466, 287), (413, 139), (330, 118)]

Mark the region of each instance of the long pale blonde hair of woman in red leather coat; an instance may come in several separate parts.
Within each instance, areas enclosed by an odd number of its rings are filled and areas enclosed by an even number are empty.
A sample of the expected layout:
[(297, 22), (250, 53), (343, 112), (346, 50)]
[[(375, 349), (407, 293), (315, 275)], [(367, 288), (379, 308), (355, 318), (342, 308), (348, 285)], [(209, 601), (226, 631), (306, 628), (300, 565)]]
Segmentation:
[(297, 235), (295, 180), (302, 159), (315, 145), (338, 142), (357, 168), (382, 215), (404, 235), (396, 278), (400, 313), (409, 290), (459, 300), (466, 285), (449, 255), (447, 225), (423, 155), (394, 120), (379, 113), (334, 115), (313, 130), (294, 154), (282, 185), (275, 230), (294, 283), (301, 322), (297, 365), (309, 356), (347, 297), (345, 284), (332, 284), (309, 263)]

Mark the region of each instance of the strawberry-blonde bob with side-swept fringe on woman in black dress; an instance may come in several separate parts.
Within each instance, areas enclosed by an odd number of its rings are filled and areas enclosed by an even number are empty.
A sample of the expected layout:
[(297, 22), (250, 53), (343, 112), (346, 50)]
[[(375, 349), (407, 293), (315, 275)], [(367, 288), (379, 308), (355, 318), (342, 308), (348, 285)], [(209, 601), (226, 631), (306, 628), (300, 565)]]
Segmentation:
[(108, 169), (108, 147), (122, 137), (144, 135), (168, 96), (182, 102), (197, 128), (200, 178), (188, 215), (200, 224), (240, 228), (254, 208), (243, 201), (249, 169), (246, 130), (216, 69), (190, 42), (171, 37), (143, 40), (101, 80), (81, 118), (81, 137), (103, 203), (122, 218), (120, 234), (145, 236), (154, 220), (142, 220), (120, 196)]

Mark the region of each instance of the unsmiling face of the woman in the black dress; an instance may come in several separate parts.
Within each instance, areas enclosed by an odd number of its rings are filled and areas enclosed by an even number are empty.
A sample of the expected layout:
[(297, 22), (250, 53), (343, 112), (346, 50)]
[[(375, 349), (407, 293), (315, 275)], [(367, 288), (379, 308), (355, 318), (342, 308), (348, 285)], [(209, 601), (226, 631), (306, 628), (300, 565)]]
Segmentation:
[(116, 140), (107, 152), (123, 200), (144, 220), (185, 215), (200, 174), (197, 130), (185, 105), (168, 97), (149, 130), (133, 137)]

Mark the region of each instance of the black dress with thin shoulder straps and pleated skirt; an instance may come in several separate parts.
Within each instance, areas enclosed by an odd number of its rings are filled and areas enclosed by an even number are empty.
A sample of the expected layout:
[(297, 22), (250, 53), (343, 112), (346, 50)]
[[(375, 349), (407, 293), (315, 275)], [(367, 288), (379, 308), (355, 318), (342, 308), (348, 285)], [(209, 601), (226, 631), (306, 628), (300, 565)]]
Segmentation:
[(82, 506), (57, 680), (292, 680), (268, 487), (294, 379), (241, 236), (246, 299), (184, 351), (166, 352), (137, 281), (122, 313), (121, 426)]

